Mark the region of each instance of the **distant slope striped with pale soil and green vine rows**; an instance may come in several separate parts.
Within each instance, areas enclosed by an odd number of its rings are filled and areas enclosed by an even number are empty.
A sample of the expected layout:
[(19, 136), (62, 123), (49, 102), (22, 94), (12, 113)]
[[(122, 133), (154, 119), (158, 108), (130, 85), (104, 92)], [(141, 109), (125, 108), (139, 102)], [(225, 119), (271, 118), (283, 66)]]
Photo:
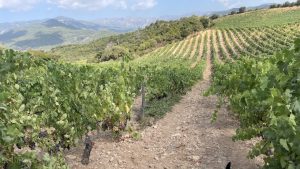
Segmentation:
[(211, 29), (159, 48), (137, 60), (157, 62), (167, 58), (186, 58), (191, 60), (191, 66), (195, 66), (209, 54), (221, 63), (245, 55), (272, 55), (274, 51), (292, 46), (296, 37), (300, 37), (300, 23), (275, 27)]

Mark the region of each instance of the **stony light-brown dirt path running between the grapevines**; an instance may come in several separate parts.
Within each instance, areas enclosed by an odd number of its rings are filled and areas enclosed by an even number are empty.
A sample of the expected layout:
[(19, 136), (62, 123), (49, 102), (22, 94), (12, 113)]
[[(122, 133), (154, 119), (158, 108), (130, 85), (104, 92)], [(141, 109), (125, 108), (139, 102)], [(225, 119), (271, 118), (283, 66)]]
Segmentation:
[[(208, 56), (209, 57), (209, 56)], [(228, 161), (234, 169), (255, 169), (246, 159), (250, 143), (232, 142), (238, 124), (225, 108), (211, 124), (217, 98), (204, 97), (209, 88), (211, 59), (207, 59), (204, 80), (183, 96), (173, 110), (154, 126), (141, 132), (139, 141), (112, 141), (109, 135), (94, 140), (90, 164), (80, 163), (82, 147), (71, 150), (67, 161), (72, 169), (222, 169)]]

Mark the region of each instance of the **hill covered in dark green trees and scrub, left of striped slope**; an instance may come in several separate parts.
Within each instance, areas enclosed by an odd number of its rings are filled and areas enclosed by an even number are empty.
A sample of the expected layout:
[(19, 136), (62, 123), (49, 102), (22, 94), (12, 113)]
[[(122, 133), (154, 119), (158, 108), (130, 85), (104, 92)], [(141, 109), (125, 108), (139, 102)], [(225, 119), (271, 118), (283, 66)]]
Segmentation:
[(128, 53), (138, 57), (159, 46), (179, 41), (210, 26), (205, 17), (186, 17), (176, 21), (157, 21), (144, 29), (116, 35), (90, 42), (88, 44), (67, 45), (52, 49), (64, 61), (99, 62), (118, 59)]

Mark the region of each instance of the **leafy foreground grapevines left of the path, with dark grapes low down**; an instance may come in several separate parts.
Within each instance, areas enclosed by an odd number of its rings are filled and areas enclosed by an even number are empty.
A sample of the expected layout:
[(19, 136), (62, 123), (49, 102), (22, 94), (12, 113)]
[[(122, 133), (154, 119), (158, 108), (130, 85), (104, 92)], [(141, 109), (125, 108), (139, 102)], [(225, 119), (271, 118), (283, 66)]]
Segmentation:
[(0, 52), (0, 68), (4, 168), (64, 168), (62, 149), (99, 122), (119, 132), (130, 117), (134, 74), (124, 66), (77, 67), (6, 50)]

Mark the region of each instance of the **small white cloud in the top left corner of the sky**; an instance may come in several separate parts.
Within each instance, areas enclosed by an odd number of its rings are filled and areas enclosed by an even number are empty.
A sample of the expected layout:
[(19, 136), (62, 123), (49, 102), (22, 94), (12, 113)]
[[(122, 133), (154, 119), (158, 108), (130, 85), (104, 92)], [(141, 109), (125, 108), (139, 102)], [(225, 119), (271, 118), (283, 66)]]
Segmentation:
[(28, 10), (33, 8), (40, 0), (0, 0), (0, 9)]

